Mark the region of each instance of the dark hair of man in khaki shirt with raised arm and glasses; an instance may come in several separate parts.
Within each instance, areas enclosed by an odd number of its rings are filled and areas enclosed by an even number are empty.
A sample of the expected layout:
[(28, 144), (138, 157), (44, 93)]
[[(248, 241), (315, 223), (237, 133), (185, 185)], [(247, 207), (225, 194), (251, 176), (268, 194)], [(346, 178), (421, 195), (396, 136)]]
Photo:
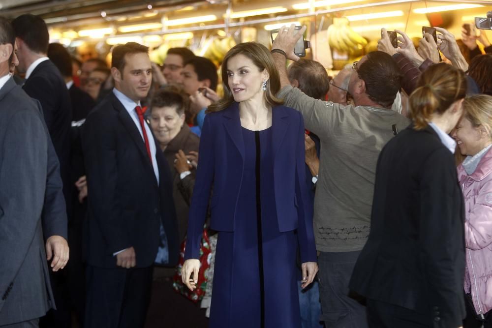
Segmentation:
[(357, 67), (357, 74), (366, 83), (369, 99), (389, 108), (401, 89), (401, 71), (393, 58), (382, 51), (366, 55), (367, 60)]

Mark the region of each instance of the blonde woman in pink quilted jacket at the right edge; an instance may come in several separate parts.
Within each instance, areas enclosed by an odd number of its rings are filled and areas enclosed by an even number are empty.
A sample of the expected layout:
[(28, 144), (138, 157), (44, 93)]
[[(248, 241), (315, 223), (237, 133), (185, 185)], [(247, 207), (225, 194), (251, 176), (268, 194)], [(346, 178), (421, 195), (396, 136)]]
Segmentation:
[(458, 167), (466, 215), (467, 318), (476, 321), (475, 317), (488, 328), (492, 327), (492, 96), (466, 98), (463, 108), (465, 115), (452, 136), (467, 156)]

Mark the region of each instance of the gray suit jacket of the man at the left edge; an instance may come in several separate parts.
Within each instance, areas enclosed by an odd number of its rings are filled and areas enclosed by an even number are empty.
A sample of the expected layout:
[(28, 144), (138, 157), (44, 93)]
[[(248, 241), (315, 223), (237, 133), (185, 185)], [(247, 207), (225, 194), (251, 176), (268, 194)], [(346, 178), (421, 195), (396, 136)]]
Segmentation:
[(41, 228), (50, 143), (39, 103), (0, 89), (0, 326), (54, 306)]

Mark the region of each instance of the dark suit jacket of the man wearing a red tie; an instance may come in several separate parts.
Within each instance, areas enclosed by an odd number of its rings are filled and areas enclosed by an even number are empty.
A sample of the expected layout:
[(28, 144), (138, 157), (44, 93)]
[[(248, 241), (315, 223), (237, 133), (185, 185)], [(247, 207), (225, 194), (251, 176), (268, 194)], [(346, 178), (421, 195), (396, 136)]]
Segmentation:
[(89, 188), (84, 230), (87, 263), (116, 268), (113, 253), (133, 246), (137, 267), (151, 266), (161, 220), (170, 265), (176, 264), (179, 240), (169, 167), (156, 143), (157, 184), (140, 132), (113, 92), (87, 117), (82, 148)]

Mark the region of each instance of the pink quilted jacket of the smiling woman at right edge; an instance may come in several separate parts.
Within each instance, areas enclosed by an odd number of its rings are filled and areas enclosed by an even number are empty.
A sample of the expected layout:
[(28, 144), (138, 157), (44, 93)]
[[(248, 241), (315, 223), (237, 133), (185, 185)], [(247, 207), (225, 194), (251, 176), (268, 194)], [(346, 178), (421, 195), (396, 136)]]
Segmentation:
[(492, 148), (475, 172), (458, 167), (465, 202), (466, 271), (464, 290), (471, 292), (478, 314), (492, 309)]

